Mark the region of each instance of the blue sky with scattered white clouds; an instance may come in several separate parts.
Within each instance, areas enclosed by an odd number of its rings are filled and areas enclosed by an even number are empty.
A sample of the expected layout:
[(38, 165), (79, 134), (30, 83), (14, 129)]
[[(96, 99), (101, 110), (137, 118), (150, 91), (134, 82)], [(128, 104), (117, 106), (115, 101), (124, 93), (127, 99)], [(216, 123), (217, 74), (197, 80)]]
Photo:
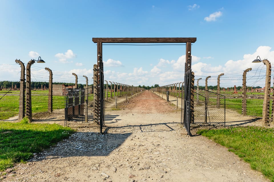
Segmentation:
[[(100, 37), (196, 37), (195, 79), (208, 85), (264, 86), (262, 63), (274, 60), (274, 1), (63, 1), (0, 0), (0, 81), (19, 81), (25, 65), (32, 81), (92, 83)], [(185, 45), (104, 45), (104, 79), (127, 85), (160, 86), (184, 81)], [(273, 69), (274, 70), (274, 69)], [(274, 74), (272, 74), (274, 75)], [(273, 79), (271, 79), (271, 84)], [(196, 85), (196, 81), (195, 81)]]

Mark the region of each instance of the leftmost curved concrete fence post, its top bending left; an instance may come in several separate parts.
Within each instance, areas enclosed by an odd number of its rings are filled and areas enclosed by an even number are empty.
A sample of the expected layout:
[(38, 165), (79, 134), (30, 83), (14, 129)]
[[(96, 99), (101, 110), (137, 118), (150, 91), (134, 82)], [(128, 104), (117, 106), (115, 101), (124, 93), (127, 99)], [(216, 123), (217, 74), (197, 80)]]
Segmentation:
[(20, 97), (19, 97), (19, 115), (18, 119), (21, 120), (25, 117), (25, 65), (20, 60), (15, 60), (16, 63), (21, 66), (21, 77), (20, 77)]

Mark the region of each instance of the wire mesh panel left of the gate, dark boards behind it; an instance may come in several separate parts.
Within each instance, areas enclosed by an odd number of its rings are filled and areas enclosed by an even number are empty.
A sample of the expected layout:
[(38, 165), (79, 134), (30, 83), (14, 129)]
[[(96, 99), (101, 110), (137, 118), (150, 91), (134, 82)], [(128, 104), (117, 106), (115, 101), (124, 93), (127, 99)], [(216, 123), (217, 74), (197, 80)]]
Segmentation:
[(67, 121), (93, 122), (93, 88), (65, 89), (65, 126)]

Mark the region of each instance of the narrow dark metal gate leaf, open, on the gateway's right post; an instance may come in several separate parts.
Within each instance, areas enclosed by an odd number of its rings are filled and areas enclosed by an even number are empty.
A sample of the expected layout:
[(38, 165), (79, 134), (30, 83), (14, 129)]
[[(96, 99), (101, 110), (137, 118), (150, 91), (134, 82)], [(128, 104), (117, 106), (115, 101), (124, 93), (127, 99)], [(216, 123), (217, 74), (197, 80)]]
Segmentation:
[[(183, 89), (182, 89), (183, 91)], [(184, 87), (184, 127), (188, 132), (188, 135), (191, 136), (190, 133), (190, 121), (191, 121), (191, 109), (190, 109), (190, 96), (191, 93), (191, 69), (185, 73), (185, 87)], [(182, 93), (183, 94), (183, 93)], [(183, 99), (182, 99), (183, 100)], [(182, 109), (183, 114), (183, 109)], [(183, 116), (181, 117), (182, 123)]]

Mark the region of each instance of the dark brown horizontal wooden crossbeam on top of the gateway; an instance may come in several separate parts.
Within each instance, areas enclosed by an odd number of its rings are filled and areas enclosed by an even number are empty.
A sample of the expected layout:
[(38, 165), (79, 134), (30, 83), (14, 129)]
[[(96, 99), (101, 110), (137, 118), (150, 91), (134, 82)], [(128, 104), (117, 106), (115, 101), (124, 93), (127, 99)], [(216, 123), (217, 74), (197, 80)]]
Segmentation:
[(94, 43), (186, 43), (196, 42), (196, 37), (184, 38), (184, 37), (160, 37), (160, 38), (92, 38)]

